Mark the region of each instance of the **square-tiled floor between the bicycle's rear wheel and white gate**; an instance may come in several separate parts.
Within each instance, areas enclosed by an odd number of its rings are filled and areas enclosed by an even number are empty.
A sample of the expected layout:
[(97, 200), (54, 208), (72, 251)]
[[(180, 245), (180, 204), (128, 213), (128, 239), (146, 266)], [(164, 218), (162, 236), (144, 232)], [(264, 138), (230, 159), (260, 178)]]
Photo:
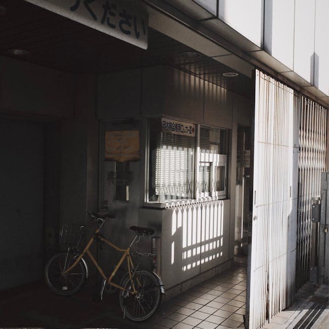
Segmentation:
[(246, 268), (234, 267), (163, 303), (153, 329), (243, 328)]

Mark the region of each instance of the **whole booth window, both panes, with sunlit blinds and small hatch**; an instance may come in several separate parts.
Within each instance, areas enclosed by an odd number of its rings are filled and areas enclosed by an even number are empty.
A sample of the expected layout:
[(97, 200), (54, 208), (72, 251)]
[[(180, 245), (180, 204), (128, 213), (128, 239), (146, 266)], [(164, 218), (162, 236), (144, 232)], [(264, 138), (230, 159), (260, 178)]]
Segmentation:
[(165, 133), (160, 118), (149, 120), (147, 201), (226, 196), (226, 130), (201, 127), (198, 146), (196, 154), (195, 137)]

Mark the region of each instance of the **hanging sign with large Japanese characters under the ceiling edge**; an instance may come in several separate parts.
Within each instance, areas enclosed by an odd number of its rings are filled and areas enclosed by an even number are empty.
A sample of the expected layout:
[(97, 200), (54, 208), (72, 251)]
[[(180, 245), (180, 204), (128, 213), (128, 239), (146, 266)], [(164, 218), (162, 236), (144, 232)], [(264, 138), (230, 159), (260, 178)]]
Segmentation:
[(122, 0), (25, 0), (129, 44), (147, 49), (148, 13)]

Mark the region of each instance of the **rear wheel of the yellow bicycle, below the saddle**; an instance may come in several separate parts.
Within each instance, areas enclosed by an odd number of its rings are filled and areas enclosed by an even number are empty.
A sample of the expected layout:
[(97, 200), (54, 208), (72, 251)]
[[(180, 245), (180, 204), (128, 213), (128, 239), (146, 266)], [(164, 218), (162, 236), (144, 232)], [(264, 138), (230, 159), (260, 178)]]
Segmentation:
[(156, 311), (161, 302), (160, 287), (154, 275), (145, 270), (136, 271), (133, 281), (137, 294), (131, 294), (133, 286), (128, 275), (122, 282), (126, 291), (120, 290), (120, 306), (129, 319), (144, 321)]

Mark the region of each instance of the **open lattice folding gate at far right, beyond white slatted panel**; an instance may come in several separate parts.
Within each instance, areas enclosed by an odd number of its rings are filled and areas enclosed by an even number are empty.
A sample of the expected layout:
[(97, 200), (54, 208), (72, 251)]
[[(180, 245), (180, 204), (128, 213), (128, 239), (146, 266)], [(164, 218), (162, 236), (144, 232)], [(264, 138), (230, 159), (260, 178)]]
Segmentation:
[(300, 96), (300, 153), (297, 220), (297, 287), (309, 279), (312, 198), (321, 194), (321, 172), (326, 167), (326, 109)]

